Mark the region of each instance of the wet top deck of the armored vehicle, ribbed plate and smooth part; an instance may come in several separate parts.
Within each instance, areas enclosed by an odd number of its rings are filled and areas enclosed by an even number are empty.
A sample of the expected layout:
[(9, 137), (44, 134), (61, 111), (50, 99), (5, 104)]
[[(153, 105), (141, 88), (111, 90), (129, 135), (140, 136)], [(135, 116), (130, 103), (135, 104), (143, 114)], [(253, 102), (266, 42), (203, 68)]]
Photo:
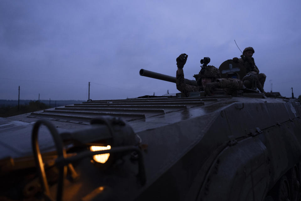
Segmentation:
[[(205, 116), (221, 111), (240, 101), (254, 103), (269, 101), (283, 102), (279, 99), (240, 98), (240, 97), (201, 97), (201, 98), (140, 98), (125, 100), (92, 101), (68, 105), (31, 113), (31, 118), (46, 118), (54, 121), (88, 124), (91, 119), (102, 115), (114, 115), (128, 122), (135, 132), (173, 124), (186, 119)], [(99, 103), (96, 103), (99, 102)], [(106, 103), (104, 103), (106, 102)], [(107, 103), (110, 102), (110, 103)], [(114, 102), (114, 103), (112, 103)], [(242, 108), (242, 103), (236, 105)], [(31, 119), (30, 118), (30, 119)], [(81, 123), (79, 123), (81, 122)]]

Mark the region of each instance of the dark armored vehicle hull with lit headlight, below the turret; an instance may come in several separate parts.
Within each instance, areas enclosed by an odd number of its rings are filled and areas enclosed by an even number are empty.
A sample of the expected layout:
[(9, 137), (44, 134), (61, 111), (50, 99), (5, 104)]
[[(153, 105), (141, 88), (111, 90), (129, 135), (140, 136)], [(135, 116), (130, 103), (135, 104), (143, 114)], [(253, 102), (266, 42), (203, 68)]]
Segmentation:
[(297, 201), (300, 117), (244, 89), (1, 118), (0, 200)]

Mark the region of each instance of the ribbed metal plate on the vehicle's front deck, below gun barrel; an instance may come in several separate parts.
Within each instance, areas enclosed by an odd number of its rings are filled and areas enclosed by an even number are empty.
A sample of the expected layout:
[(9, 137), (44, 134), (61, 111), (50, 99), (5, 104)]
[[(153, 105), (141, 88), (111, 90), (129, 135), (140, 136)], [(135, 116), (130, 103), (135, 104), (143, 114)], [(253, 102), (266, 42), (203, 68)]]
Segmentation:
[[(216, 98), (152, 98), (115, 101), (92, 101), (74, 104), (44, 112), (31, 113), (29, 117), (50, 117), (59, 119), (89, 120), (103, 115), (113, 115), (123, 118), (125, 121), (145, 119), (158, 115), (176, 112), (187, 107), (196, 107), (206, 103), (217, 102)], [(159, 117), (160, 118), (160, 117)]]

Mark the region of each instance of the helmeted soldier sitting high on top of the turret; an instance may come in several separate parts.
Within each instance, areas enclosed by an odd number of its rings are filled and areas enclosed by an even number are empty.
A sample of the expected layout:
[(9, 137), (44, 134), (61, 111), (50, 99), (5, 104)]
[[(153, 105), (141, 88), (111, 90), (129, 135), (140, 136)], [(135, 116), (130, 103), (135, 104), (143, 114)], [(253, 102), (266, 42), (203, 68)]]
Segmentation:
[[(258, 79), (259, 83), (257, 83), (257, 87), (258, 89), (264, 93), (263, 91), (263, 85), (264, 85), (264, 82), (266, 81), (266, 75), (263, 74), (263, 73), (259, 73), (259, 70), (257, 68), (257, 66), (255, 65), (255, 62), (254, 62), (254, 58), (252, 57), (253, 54), (255, 53), (254, 49), (252, 47), (246, 47), (242, 53), (242, 55), (240, 56), (241, 58), (237, 58), (237, 57), (234, 57), (233, 58), (233, 61), (234, 62), (239, 62), (241, 63), (244, 67), (245, 67), (245, 70), (246, 70), (246, 73), (247, 73), (247, 78), (248, 80), (250, 80), (250, 77), (254, 77), (254, 75), (256, 74), (256, 79)], [(252, 72), (252, 73), (250, 73)], [(255, 72), (255, 73), (254, 73)], [(244, 78), (246, 80), (246, 78)], [(244, 81), (243, 79), (243, 81)], [(244, 82), (244, 85), (247, 87), (247, 88), (253, 88), (251, 86), (248, 85), (249, 82)], [(260, 86), (261, 85), (261, 86)]]

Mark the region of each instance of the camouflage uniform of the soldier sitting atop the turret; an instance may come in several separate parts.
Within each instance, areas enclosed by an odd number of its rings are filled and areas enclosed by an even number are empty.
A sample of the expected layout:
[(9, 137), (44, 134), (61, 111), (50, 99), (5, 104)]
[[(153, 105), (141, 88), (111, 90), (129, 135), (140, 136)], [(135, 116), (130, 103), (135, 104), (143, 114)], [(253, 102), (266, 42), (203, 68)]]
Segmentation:
[[(253, 57), (247, 58), (246, 56), (244, 56), (244, 53), (249, 50), (252, 51), (253, 54), (255, 53), (255, 51), (252, 47), (246, 47), (243, 51), (243, 55), (240, 56), (241, 58), (239, 58), (238, 61), (245, 67), (245, 71), (247, 74), (252, 71), (256, 72), (256, 74), (258, 75), (258, 80), (261, 84), (261, 87), (263, 88), (264, 82), (266, 81), (267, 76), (264, 73), (259, 73), (259, 69), (255, 65), (255, 61), (254, 61)], [(233, 58), (233, 60), (234, 61), (237, 60), (237, 57)]]

